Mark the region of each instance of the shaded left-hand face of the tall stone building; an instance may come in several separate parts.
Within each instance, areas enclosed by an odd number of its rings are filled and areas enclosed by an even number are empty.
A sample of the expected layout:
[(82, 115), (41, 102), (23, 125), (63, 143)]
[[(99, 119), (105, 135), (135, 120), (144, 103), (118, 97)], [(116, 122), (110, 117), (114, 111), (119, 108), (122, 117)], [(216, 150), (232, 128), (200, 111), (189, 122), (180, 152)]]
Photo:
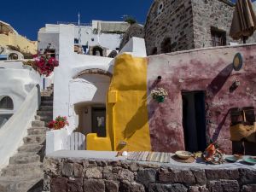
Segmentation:
[[(160, 3), (163, 3), (163, 9), (157, 15)], [(191, 0), (154, 1), (144, 30), (148, 55), (165, 53), (163, 43), (166, 38), (171, 40), (171, 51), (194, 49)]]

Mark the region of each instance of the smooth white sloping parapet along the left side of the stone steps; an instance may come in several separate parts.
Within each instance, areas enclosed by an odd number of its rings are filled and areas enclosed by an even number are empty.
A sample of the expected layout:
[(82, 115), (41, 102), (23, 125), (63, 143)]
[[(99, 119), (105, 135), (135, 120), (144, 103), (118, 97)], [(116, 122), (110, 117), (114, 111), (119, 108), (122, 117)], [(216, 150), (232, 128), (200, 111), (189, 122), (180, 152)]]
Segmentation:
[(38, 89), (38, 86), (32, 88), (20, 108), (0, 129), (0, 169), (9, 164), (9, 158), (15, 154), (26, 136), (26, 130), (31, 125), (40, 103)]

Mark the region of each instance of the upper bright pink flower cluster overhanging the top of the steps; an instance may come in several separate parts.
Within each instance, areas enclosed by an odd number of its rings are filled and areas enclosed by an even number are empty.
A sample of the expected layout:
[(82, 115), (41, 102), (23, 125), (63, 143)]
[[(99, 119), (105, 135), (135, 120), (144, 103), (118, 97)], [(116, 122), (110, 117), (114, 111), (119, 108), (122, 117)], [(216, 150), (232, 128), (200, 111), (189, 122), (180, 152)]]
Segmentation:
[(40, 73), (44, 74), (48, 77), (53, 71), (55, 67), (59, 66), (59, 62), (50, 55), (43, 54), (43, 55), (36, 55), (34, 57), (34, 68)]

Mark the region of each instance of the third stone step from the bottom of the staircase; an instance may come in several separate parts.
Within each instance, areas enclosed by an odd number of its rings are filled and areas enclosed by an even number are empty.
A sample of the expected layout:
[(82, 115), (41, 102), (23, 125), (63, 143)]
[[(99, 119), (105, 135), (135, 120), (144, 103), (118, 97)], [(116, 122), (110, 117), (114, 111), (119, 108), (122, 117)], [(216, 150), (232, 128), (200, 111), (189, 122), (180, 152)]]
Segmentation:
[(10, 157), (9, 164), (27, 164), (40, 162), (40, 156), (35, 153), (18, 153)]

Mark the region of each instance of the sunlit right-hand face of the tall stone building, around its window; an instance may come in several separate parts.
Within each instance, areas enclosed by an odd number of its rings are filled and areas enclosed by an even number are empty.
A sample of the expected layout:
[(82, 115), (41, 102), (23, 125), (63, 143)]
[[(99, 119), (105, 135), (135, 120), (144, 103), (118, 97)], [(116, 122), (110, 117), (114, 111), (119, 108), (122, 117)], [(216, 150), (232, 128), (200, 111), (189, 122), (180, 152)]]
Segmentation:
[(212, 47), (211, 28), (226, 32), (226, 44), (230, 38), (234, 5), (219, 0), (192, 0), (195, 48)]

